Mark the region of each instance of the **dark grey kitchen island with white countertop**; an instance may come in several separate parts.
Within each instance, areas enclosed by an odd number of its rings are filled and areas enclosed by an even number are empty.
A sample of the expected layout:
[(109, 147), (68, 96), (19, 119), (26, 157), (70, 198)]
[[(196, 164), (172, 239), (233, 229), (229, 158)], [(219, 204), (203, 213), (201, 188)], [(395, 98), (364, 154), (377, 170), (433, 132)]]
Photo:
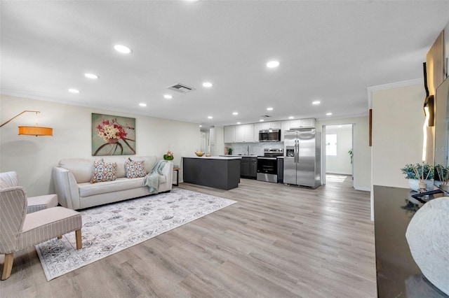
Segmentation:
[(241, 157), (182, 157), (183, 180), (220, 190), (239, 187)]

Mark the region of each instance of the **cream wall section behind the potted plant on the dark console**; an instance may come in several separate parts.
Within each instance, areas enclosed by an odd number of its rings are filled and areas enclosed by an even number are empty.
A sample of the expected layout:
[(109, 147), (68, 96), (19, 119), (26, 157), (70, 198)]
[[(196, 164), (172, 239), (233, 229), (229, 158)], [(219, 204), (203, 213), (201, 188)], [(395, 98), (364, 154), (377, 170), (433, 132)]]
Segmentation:
[(408, 187), (406, 164), (422, 162), (423, 85), (373, 92), (373, 185)]

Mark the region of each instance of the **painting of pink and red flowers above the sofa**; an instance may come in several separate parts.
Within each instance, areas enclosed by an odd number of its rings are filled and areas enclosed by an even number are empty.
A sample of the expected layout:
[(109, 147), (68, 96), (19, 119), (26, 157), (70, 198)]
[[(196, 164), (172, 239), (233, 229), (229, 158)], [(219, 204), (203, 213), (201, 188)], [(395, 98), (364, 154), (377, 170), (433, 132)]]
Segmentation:
[(135, 118), (92, 113), (92, 155), (134, 155)]

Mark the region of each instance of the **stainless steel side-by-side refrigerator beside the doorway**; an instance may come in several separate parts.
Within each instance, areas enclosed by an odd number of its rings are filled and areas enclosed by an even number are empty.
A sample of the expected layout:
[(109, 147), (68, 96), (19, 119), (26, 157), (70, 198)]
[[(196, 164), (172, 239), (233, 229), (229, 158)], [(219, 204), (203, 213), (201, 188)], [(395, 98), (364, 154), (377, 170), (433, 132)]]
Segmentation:
[(314, 128), (284, 134), (283, 183), (308, 187), (321, 185), (321, 133)]

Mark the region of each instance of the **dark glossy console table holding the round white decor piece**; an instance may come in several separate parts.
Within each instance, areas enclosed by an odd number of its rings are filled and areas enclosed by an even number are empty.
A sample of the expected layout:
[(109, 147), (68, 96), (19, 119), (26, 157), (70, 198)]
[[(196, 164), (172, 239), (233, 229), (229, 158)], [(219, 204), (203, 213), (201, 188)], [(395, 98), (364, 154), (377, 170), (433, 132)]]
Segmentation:
[(408, 248), (406, 229), (422, 206), (409, 198), (409, 189), (374, 185), (377, 296), (448, 297), (422, 275)]

